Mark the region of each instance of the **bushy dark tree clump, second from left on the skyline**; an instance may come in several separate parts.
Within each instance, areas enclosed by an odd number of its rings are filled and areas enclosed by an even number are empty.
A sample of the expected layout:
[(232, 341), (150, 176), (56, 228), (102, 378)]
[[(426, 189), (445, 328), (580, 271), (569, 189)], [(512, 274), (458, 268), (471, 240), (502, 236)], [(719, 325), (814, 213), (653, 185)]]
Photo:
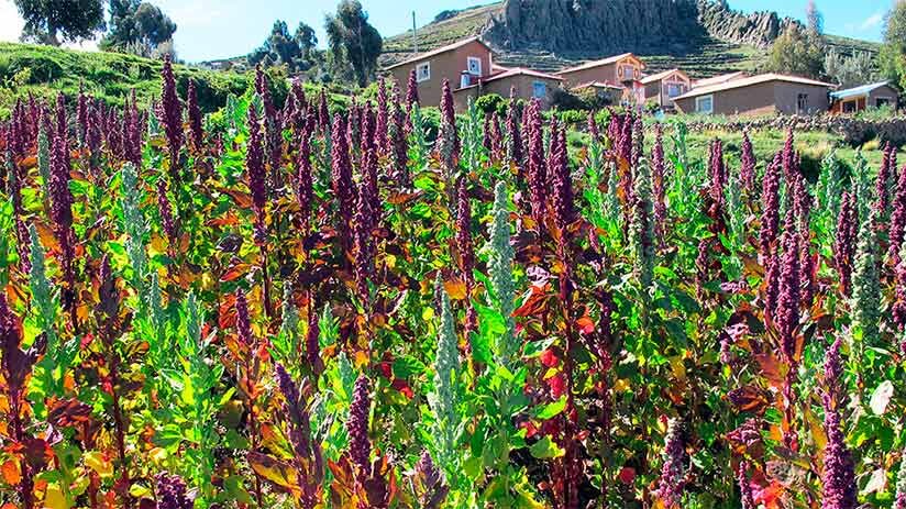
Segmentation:
[(172, 48), (174, 33), (176, 23), (157, 5), (140, 0), (110, 0), (110, 32), (100, 47), (150, 56), (162, 45)]

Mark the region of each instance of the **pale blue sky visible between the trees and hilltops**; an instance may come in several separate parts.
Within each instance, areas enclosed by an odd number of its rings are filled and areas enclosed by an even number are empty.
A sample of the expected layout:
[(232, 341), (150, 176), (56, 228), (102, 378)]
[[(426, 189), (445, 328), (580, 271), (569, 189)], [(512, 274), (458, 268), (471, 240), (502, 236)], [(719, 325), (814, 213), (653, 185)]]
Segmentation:
[[(189, 62), (225, 58), (248, 53), (258, 46), (281, 19), (295, 30), (305, 21), (323, 40), (324, 14), (338, 0), (151, 0), (177, 23), (176, 51)], [(730, 0), (730, 7), (744, 12), (773, 10), (781, 15), (802, 19), (807, 0)], [(893, 0), (817, 0), (825, 16), (825, 32), (835, 35), (880, 41), (884, 13)], [(424, 24), (445, 9), (462, 9), (482, 0), (362, 0), (372, 24), (383, 35), (394, 35), (412, 24)], [(0, 41), (14, 41), (21, 31), (12, 0), (0, 0)], [(82, 47), (91, 48), (92, 43)]]

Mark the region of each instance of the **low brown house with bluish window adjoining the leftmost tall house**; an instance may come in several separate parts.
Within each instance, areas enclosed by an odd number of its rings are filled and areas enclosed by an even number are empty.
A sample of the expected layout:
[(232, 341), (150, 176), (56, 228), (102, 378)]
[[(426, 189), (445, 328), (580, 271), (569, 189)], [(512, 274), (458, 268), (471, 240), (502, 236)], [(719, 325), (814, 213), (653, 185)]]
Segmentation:
[(551, 107), (553, 93), (561, 87), (563, 78), (546, 73), (526, 69), (523, 67), (498, 67), (499, 73), (480, 78), (477, 84), (453, 91), (453, 104), (456, 111), (464, 111), (468, 107), (468, 98), (473, 100), (485, 93), (497, 93), (509, 97), (510, 90), (521, 99), (535, 98), (543, 109)]

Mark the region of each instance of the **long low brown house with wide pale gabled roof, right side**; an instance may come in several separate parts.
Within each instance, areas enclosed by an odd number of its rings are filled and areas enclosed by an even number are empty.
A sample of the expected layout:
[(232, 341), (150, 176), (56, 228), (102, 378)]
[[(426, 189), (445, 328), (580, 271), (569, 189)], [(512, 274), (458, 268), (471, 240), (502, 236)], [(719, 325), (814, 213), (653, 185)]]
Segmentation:
[(696, 87), (673, 102), (683, 113), (815, 114), (828, 110), (832, 88), (824, 81), (771, 73)]

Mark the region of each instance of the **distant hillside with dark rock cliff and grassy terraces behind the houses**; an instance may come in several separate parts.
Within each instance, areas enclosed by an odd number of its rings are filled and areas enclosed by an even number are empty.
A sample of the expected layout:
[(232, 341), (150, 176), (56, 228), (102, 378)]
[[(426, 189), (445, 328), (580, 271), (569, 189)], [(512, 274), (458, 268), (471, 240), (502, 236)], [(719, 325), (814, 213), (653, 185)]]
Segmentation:
[[(416, 40), (423, 52), (482, 35), (501, 65), (539, 70), (633, 52), (651, 71), (681, 67), (712, 76), (756, 68), (764, 48), (787, 24), (797, 23), (773, 12), (742, 14), (711, 0), (639, 0), (634, 9), (622, 5), (627, 1), (506, 0), (445, 11), (419, 27)], [(844, 53), (877, 51), (864, 41), (833, 35), (828, 41)], [(382, 65), (411, 56), (412, 45), (411, 32), (386, 38)]]

